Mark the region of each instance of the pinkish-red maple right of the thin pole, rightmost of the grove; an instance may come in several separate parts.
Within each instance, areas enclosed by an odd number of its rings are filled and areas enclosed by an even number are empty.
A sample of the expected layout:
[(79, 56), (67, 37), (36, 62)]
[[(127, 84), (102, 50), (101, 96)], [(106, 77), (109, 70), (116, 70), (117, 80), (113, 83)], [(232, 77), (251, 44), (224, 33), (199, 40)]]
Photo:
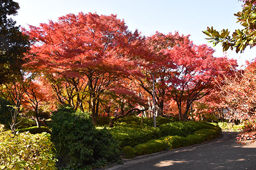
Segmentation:
[[(167, 50), (175, 67), (167, 76), (169, 96), (176, 101), (179, 119), (186, 120), (194, 101), (200, 100), (222, 82), (224, 75), (232, 74), (236, 60), (214, 57), (207, 45), (195, 45), (186, 37), (184, 41)], [(182, 111), (185, 105), (185, 111)]]

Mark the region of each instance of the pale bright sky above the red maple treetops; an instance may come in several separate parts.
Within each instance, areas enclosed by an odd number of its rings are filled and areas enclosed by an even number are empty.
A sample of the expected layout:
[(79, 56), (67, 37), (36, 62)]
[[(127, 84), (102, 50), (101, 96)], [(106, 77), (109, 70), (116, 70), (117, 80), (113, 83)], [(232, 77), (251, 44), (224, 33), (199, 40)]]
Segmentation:
[[(14, 0), (15, 1), (15, 0)], [(161, 33), (178, 31), (180, 34), (190, 34), (195, 44), (207, 43), (202, 31), (208, 26), (217, 30), (223, 28), (230, 32), (241, 28), (236, 23), (234, 13), (242, 10), (238, 0), (16, 0), (20, 9), (13, 17), (18, 25), (27, 28), (27, 25), (38, 26), (49, 19), (57, 18), (69, 13), (78, 12), (110, 15), (124, 19), (129, 30), (138, 29), (142, 35), (151, 36), (156, 31)], [(211, 43), (207, 43), (212, 46)], [(215, 56), (223, 56), (222, 47), (217, 45)], [(246, 60), (254, 59), (256, 48), (246, 49), (243, 54), (228, 51), (229, 58), (238, 60), (243, 65)]]

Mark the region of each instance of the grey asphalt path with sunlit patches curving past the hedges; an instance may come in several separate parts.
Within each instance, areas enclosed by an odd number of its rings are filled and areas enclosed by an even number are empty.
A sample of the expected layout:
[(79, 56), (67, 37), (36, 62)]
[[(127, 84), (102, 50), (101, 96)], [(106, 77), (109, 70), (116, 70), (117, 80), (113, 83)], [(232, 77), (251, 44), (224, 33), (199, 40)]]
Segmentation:
[(110, 169), (256, 169), (256, 142), (237, 143), (235, 132), (191, 147), (137, 157)]

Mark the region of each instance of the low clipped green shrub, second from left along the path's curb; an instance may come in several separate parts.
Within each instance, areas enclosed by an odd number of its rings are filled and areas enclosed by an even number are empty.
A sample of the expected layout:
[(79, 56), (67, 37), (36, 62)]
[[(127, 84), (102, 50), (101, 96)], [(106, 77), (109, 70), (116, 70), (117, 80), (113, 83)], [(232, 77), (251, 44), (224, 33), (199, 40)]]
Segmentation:
[(146, 143), (136, 145), (134, 149), (136, 155), (139, 156), (164, 151), (167, 149), (167, 147), (164, 140), (152, 139), (147, 141)]

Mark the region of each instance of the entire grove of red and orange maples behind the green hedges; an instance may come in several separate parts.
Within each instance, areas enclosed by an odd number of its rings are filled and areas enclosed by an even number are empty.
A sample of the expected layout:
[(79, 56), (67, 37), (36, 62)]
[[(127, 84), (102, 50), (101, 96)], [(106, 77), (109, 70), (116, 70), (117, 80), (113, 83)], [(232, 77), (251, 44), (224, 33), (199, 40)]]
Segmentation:
[(23, 32), (33, 41), (23, 69), (33, 76), (20, 106), (33, 110), (37, 126), (40, 110), (61, 105), (91, 112), (95, 124), (99, 115), (115, 116), (112, 122), (128, 114), (152, 117), (153, 94), (157, 116), (185, 121), (195, 102), (210, 96), (237, 66), (189, 35), (144, 37), (116, 15), (68, 14)]

